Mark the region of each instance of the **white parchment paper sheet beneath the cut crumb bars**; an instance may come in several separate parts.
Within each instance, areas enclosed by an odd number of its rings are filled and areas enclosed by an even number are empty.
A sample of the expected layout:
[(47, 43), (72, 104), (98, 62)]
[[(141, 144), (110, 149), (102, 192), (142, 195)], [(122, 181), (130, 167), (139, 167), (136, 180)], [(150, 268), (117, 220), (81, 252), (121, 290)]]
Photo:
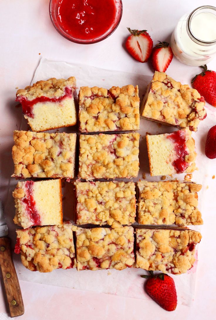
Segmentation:
[[(68, 78), (69, 76), (76, 77), (78, 88), (80, 86), (99, 86), (104, 88), (111, 88), (113, 85), (123, 86), (126, 84), (138, 84), (140, 99), (142, 99), (142, 95), (145, 93), (146, 87), (151, 81), (151, 76), (132, 74), (121, 71), (111, 71), (85, 65), (75, 65), (66, 62), (50, 61), (43, 58), (41, 59), (38, 68), (36, 69), (32, 83), (38, 80), (47, 80), (51, 77)], [(184, 79), (177, 78), (175, 80), (184, 83)], [(28, 85), (28, 83), (26, 85)], [(211, 113), (210, 110), (207, 110), (207, 112), (208, 115), (209, 113)], [(213, 112), (211, 116), (208, 117), (208, 119), (208, 121), (204, 120), (200, 123), (198, 132), (193, 132), (193, 137), (196, 141), (196, 164), (199, 168), (199, 171), (193, 173), (192, 181), (201, 183), (203, 185), (202, 190), (199, 192), (199, 210), (202, 212), (204, 220), (205, 190), (207, 188), (205, 178), (208, 169), (204, 165), (206, 159), (204, 156), (205, 137), (203, 137), (202, 132), (207, 132), (208, 128), (211, 127), (215, 122), (215, 115), (213, 114)], [(21, 130), (30, 130), (24, 118), (22, 119), (20, 124), (17, 124), (17, 127)], [(14, 130), (16, 130), (16, 128), (14, 128)], [(134, 181), (143, 179), (143, 173), (146, 174), (146, 179), (149, 181), (160, 180), (160, 177), (150, 177), (149, 174), (147, 147), (145, 140), (146, 132), (150, 132), (151, 134), (158, 134), (172, 132), (174, 130), (175, 129), (172, 127), (163, 126), (151, 121), (140, 119), (140, 172), (138, 178), (134, 179)], [(60, 131), (78, 132), (74, 127), (63, 128)], [(76, 162), (77, 161), (78, 155), (76, 156)], [(174, 175), (173, 178), (178, 177), (178, 179), (184, 180), (184, 176), (185, 174)], [(171, 180), (171, 177), (167, 177), (167, 179)], [(11, 178), (7, 204), (5, 207), (5, 211), (8, 213), (7, 223), (9, 226), (13, 245), (15, 243), (16, 237), (16, 226), (12, 222), (15, 212), (12, 190), (14, 189), (16, 183), (17, 181), (14, 178)], [(63, 214), (64, 220), (70, 219), (73, 221), (74, 212), (72, 184), (68, 182), (63, 182)], [(200, 227), (196, 227), (195, 229), (200, 230)], [(115, 269), (98, 271), (85, 270), (80, 272), (76, 271), (76, 269), (58, 269), (51, 273), (42, 274), (39, 272), (31, 272), (28, 269), (24, 268), (21, 264), (19, 255), (14, 254), (14, 262), (20, 280), (43, 284), (53, 284), (79, 290), (103, 292), (108, 294), (132, 297), (136, 299), (150, 299), (144, 292), (145, 280), (140, 277), (140, 275), (147, 274), (147, 272), (142, 269), (127, 268), (122, 271), (117, 271)], [(174, 278), (176, 284), (178, 303), (189, 306), (194, 298), (196, 263), (194, 268), (192, 268), (187, 274), (172, 277)]]

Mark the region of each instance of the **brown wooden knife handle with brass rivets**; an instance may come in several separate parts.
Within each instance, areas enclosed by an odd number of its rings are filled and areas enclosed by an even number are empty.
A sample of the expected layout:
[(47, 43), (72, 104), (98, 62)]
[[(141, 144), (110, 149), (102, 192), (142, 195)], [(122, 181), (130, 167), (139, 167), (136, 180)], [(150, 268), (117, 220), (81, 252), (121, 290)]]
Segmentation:
[(24, 305), (11, 255), (11, 239), (7, 237), (0, 238), (0, 267), (10, 316), (21, 316), (24, 313)]

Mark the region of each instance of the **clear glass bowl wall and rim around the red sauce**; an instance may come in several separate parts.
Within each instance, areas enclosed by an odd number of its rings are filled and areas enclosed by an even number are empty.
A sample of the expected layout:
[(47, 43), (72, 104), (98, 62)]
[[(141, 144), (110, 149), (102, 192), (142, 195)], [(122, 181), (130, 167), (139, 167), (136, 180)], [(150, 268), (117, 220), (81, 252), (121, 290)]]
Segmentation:
[[(100, 0), (99, 0), (100, 1)], [(60, 33), (61, 36), (63, 36), (64, 38), (75, 42), (75, 43), (79, 43), (79, 44), (92, 44), (92, 43), (96, 43), (96, 42), (100, 42), (104, 39), (106, 39), (108, 36), (110, 36), (118, 27), (121, 18), (122, 18), (122, 0), (114, 0), (114, 4), (116, 5), (116, 15), (115, 15), (115, 19), (112, 23), (112, 25), (110, 26), (110, 28), (103, 33), (102, 35), (96, 37), (96, 38), (92, 38), (92, 39), (80, 39), (80, 38), (76, 38), (71, 36), (67, 31), (65, 31), (61, 24), (59, 23), (57, 17), (58, 17), (58, 4), (59, 4), (59, 0), (50, 0), (50, 6), (49, 6), (49, 12), (50, 12), (50, 19), (52, 21), (53, 26), (55, 27), (55, 29)]]

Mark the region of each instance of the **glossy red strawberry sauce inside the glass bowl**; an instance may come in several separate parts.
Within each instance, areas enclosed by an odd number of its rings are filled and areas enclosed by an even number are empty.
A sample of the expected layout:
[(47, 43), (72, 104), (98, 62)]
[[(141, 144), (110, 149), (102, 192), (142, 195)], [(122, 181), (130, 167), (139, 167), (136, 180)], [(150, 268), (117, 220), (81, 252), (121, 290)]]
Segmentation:
[(61, 0), (57, 20), (77, 39), (94, 39), (103, 35), (115, 21), (114, 0)]

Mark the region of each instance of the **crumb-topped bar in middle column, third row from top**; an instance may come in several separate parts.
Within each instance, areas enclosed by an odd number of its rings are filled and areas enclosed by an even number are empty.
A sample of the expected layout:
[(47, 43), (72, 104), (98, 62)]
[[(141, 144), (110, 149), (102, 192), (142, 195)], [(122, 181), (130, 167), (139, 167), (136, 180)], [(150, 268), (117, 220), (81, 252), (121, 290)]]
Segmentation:
[(75, 182), (76, 224), (116, 227), (135, 222), (136, 197), (133, 182)]

